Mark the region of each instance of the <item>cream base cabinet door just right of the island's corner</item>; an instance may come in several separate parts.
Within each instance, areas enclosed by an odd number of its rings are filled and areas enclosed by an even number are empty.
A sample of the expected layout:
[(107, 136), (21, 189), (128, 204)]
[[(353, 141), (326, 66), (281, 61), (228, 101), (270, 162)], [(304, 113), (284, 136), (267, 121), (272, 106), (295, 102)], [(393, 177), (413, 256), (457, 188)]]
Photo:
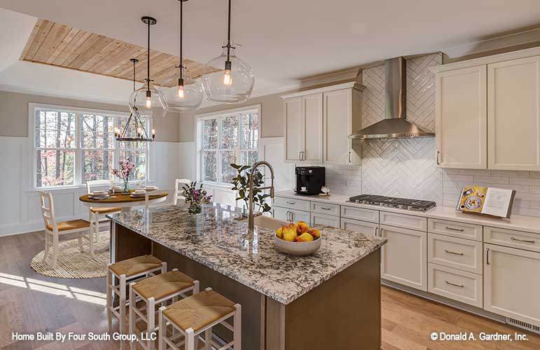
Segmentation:
[(427, 291), (427, 233), (381, 225), (380, 235), (388, 239), (382, 246), (381, 277)]

